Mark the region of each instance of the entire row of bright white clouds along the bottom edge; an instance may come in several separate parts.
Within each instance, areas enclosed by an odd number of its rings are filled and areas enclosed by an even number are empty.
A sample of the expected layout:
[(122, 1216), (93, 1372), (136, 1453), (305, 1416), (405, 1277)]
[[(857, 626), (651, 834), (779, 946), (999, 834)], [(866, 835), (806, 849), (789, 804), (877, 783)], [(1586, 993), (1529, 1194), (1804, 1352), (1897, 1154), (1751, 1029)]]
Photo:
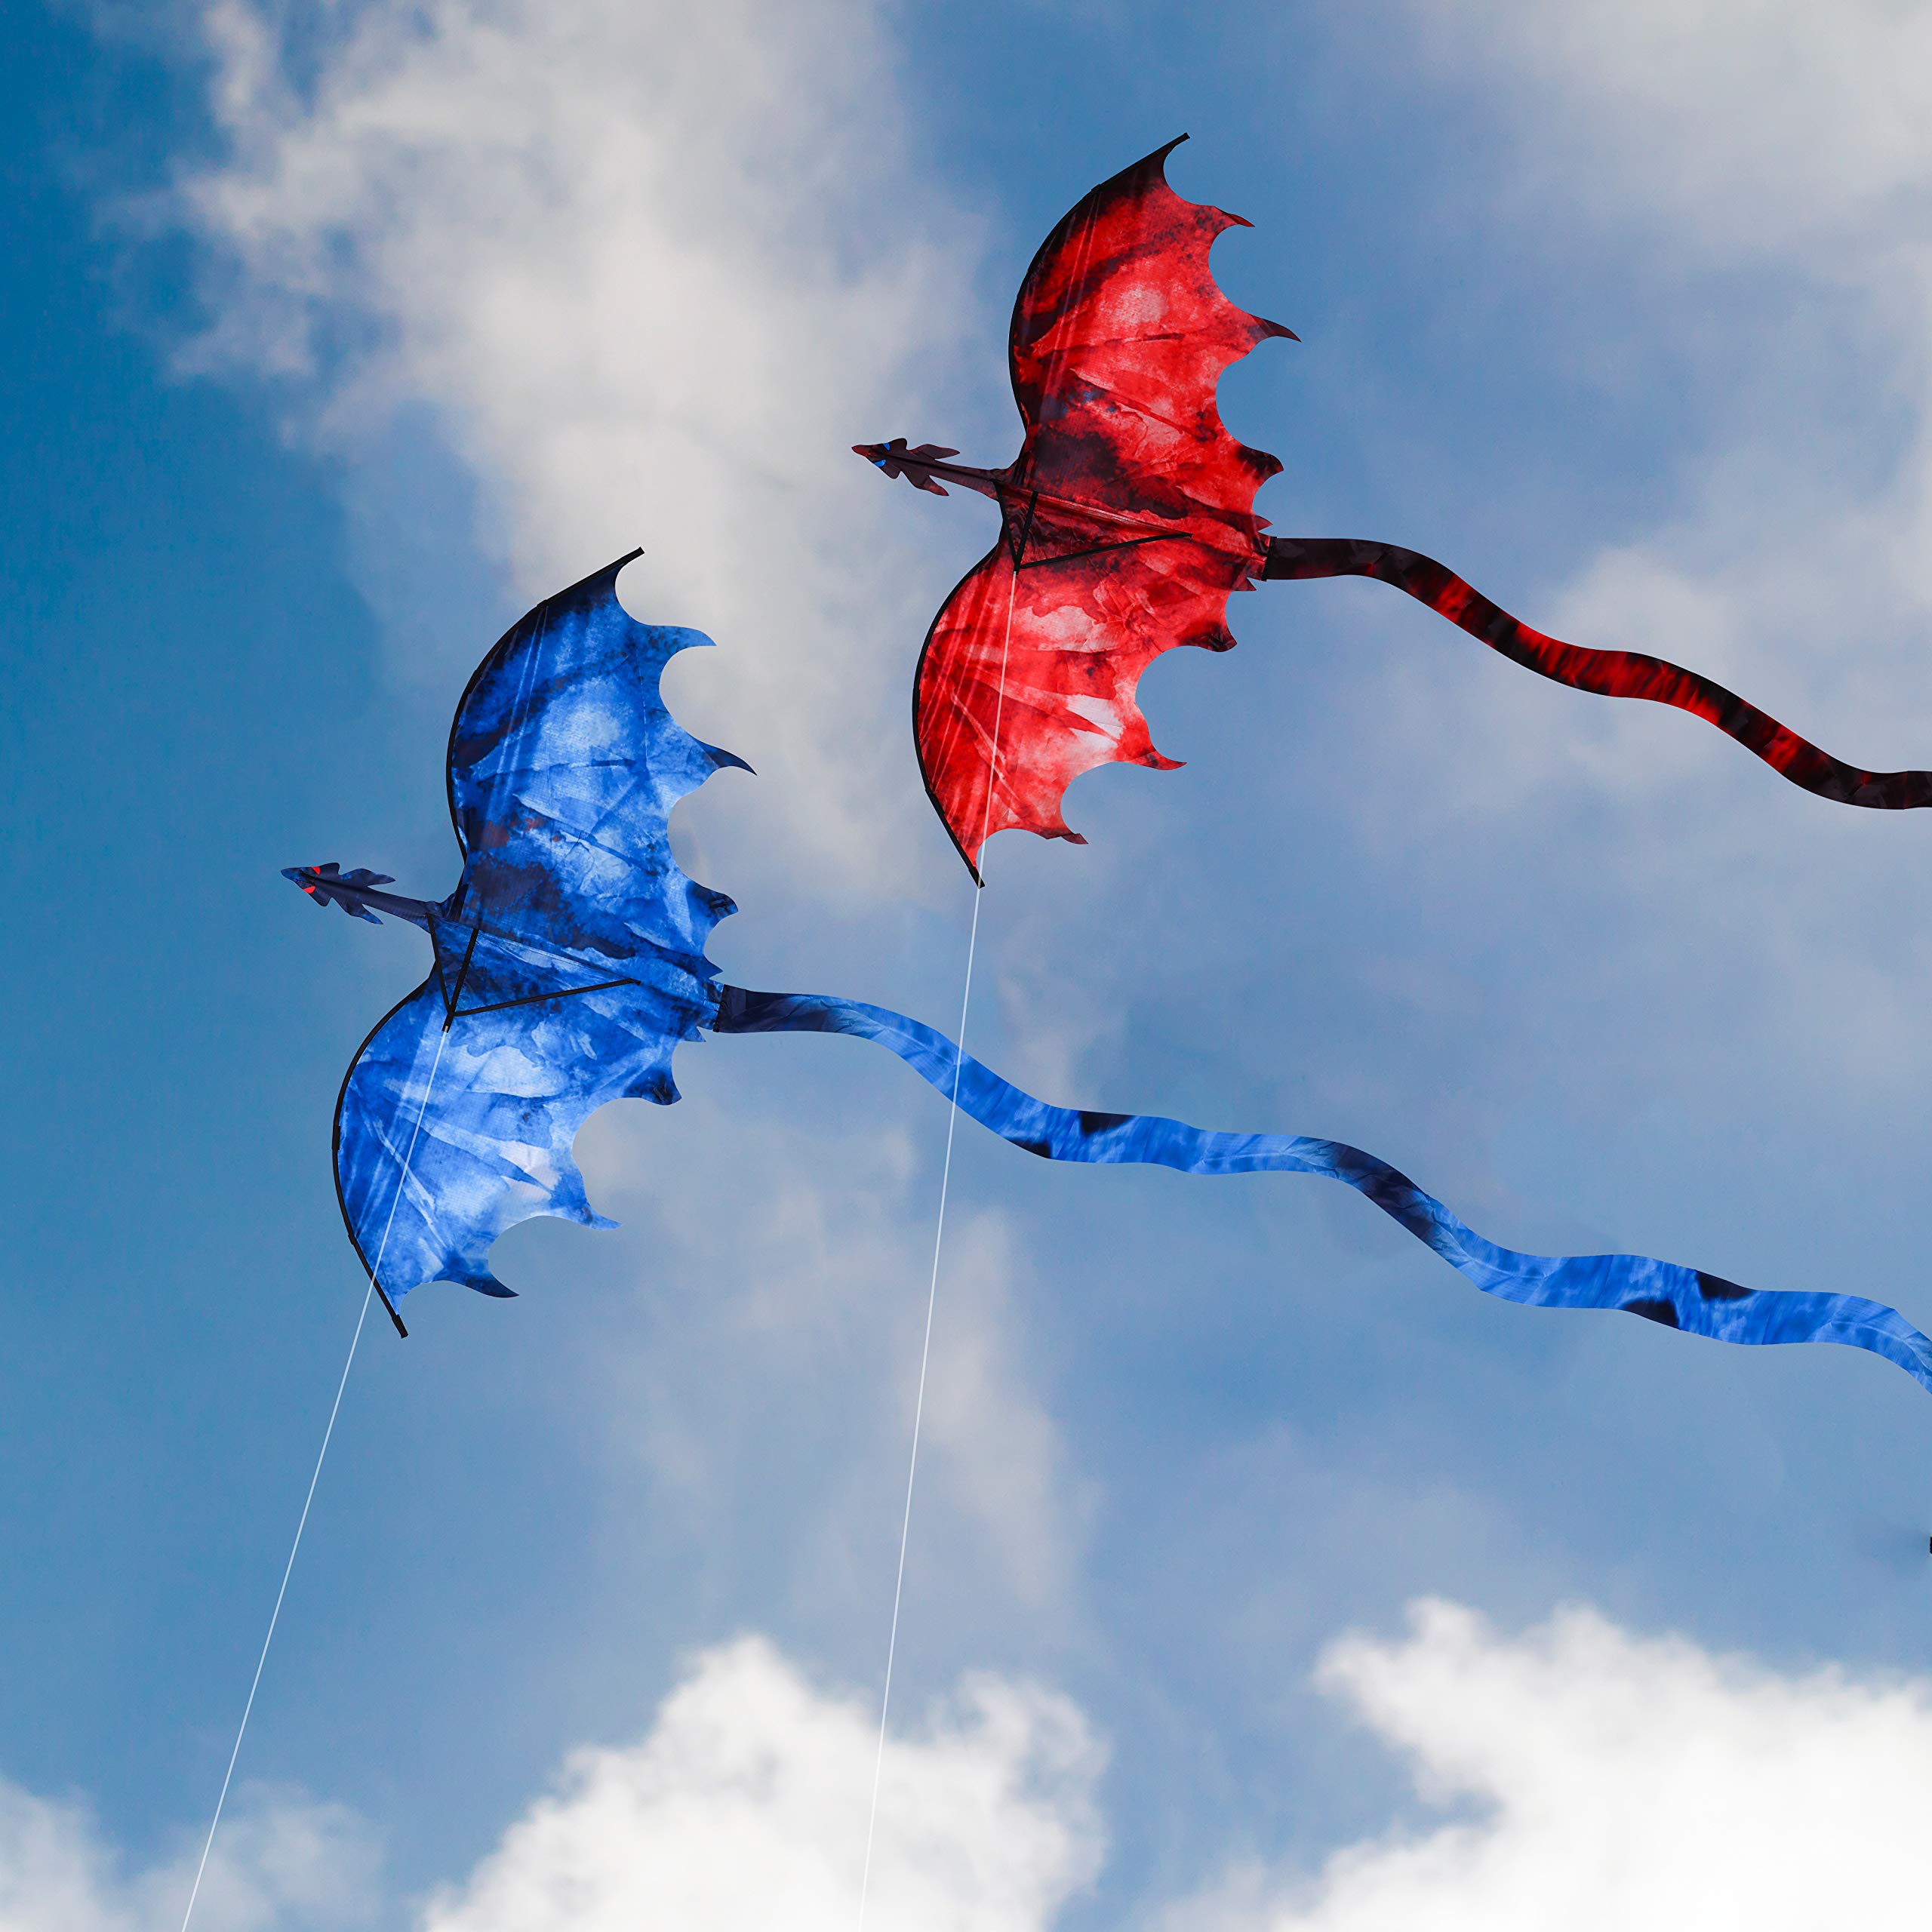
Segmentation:
[[(1250, 1857), (1211, 1889), (1132, 1917), (1165, 1932), (1924, 1922), (1926, 1679), (1779, 1671), (1582, 1607), (1507, 1634), (1422, 1602), (1401, 1638), (1331, 1644), (1318, 1683), (1405, 1760), (1420, 1814), (1314, 1870)], [(782, 1918), (848, 1932), (875, 1739), (869, 1700), (815, 1687), (765, 1638), (719, 1646), (643, 1739), (576, 1752), (462, 1882), (398, 1901), (394, 1922), (765, 1932)], [(1061, 1924), (1101, 1872), (1103, 1768), (1065, 1696), (968, 1677), (887, 1747), (869, 1920)], [(371, 1845), (338, 1806), (255, 1795), (224, 1835), (197, 1922), (373, 1920)], [(124, 1878), (81, 1812), (0, 1791), (0, 1932), (162, 1922), (189, 1870)]]

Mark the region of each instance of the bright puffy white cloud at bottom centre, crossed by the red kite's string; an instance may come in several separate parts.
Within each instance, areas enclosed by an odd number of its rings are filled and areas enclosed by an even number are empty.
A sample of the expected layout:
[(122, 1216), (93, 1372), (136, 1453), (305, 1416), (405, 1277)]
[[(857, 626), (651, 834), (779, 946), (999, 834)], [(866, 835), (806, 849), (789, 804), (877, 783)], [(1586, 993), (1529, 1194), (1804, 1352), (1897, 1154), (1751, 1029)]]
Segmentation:
[[(703, 1656), (634, 1747), (578, 1752), (554, 1795), (437, 1897), (423, 1932), (850, 1932), (875, 1714), (806, 1683), (769, 1644)], [(1045, 1690), (981, 1677), (881, 1777), (879, 1926), (1026, 1932), (1099, 1866), (1099, 1752)]]

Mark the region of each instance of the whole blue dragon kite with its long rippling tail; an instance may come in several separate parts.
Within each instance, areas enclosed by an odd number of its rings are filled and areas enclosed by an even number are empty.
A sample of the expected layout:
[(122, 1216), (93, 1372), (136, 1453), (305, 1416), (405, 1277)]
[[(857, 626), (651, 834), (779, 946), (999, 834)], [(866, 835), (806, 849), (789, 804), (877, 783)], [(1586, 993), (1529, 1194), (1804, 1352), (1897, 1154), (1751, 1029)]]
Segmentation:
[(678, 1041), (813, 1032), (877, 1041), (1045, 1159), (1323, 1175), (1486, 1294), (1621, 1308), (1716, 1341), (1847, 1343), (1932, 1389), (1932, 1341), (1882, 1302), (1743, 1289), (1633, 1254), (1519, 1254), (1358, 1148), (1049, 1107), (904, 1014), (721, 985), (705, 945), (736, 908), (684, 875), (667, 821), (713, 771), (750, 767), (699, 744), (665, 709), (665, 665), (711, 639), (624, 611), (616, 576), (636, 554), (537, 605), (469, 680), (450, 726), (464, 871), (448, 898), (384, 893), (386, 875), (336, 864), (284, 873), (321, 906), (419, 925), (435, 951), (429, 978), (357, 1049), (336, 1101), (342, 1217), (398, 1333), (408, 1329), (396, 1304), (427, 1281), (514, 1293), (491, 1273), (489, 1252), (518, 1221), (611, 1227), (585, 1200), (572, 1144), (605, 1101), (674, 1101)]

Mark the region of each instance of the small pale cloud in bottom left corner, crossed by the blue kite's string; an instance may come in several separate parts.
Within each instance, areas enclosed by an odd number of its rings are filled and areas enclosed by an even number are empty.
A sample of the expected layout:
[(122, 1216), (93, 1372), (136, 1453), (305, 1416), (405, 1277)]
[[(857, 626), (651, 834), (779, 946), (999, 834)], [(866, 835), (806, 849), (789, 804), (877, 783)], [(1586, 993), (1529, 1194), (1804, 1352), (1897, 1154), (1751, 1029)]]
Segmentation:
[[(77, 1804), (0, 1783), (0, 1932), (137, 1932), (180, 1922), (199, 1835), (164, 1864), (128, 1872)], [(340, 1804), (263, 1789), (238, 1795), (195, 1901), (199, 1932), (330, 1932), (365, 1924), (375, 1841)]]

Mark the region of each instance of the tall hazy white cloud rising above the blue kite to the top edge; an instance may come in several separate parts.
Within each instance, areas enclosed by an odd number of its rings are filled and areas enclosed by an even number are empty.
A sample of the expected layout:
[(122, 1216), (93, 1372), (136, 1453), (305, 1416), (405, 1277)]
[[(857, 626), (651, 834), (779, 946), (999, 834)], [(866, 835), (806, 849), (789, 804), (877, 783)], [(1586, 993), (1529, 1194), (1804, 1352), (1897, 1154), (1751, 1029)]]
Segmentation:
[[(446, 572), (469, 539), (533, 601), (645, 545), (632, 609), (728, 647), (680, 665), (676, 705), (763, 775), (773, 877), (902, 885), (925, 810), (906, 690), (945, 580), (900, 587), (889, 531), (933, 520), (848, 446), (935, 419), (922, 355), (974, 307), (875, 8), (433, 0), (317, 29), (213, 0), (203, 19), (224, 155), (180, 185), (201, 361), (294, 383), (309, 433), (365, 454), (352, 498), (394, 497), (398, 437), (446, 444), (483, 522), (444, 533)], [(454, 641), (437, 678), (483, 643)]]

